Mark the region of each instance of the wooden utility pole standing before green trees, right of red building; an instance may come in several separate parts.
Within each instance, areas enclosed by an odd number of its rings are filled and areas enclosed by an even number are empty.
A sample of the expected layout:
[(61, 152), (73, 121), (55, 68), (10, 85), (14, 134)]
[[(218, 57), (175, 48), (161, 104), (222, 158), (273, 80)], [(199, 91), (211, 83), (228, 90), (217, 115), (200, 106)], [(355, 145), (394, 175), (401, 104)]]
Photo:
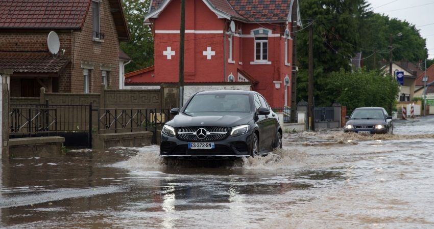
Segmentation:
[(314, 23), (309, 27), (308, 117), (310, 130), (315, 131), (314, 104)]

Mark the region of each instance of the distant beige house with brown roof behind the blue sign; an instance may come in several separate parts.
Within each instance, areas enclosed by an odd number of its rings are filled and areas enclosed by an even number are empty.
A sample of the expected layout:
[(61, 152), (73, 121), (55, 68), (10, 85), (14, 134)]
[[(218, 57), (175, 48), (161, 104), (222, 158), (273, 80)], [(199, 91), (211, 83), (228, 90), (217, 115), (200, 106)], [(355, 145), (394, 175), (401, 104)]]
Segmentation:
[[(390, 63), (382, 61), (381, 70), (385, 73), (390, 71)], [(422, 72), (419, 67), (408, 61), (394, 61), (392, 62), (392, 73), (396, 79), (395, 72), (404, 72), (404, 85), (400, 87), (398, 101), (405, 102), (411, 101), (414, 97), (416, 88), (416, 78)]]

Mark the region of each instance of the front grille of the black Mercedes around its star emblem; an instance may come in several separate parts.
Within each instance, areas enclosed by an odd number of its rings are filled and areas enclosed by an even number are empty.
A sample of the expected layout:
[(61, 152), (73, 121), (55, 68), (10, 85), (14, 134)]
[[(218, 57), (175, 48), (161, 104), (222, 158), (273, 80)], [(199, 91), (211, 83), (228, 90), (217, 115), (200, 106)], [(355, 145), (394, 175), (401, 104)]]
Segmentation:
[[(200, 129), (204, 128), (207, 132), (205, 138), (200, 139), (196, 135), (196, 132)], [(183, 141), (220, 141), (225, 139), (227, 136), (229, 128), (227, 127), (215, 127), (215, 126), (207, 126), (207, 127), (178, 127), (178, 138)]]

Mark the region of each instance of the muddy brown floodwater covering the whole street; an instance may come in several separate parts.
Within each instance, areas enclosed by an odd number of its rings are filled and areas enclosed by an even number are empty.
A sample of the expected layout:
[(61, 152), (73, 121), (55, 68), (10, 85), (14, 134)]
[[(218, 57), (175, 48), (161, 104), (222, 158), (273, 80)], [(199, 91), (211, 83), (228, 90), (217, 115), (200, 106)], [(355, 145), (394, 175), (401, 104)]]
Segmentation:
[(395, 125), (224, 163), (167, 165), (158, 146), (3, 160), (0, 227), (434, 228), (434, 117)]

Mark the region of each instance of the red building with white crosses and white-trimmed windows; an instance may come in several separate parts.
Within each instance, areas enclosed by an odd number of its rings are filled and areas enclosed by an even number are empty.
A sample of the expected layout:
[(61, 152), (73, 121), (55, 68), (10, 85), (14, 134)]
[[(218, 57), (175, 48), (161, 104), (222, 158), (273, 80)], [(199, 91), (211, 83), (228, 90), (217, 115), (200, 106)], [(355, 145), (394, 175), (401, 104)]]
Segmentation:
[[(290, 104), (294, 0), (185, 2), (187, 84), (250, 81), (272, 106)], [(145, 24), (154, 34), (155, 66), (126, 74), (126, 85), (178, 82), (179, 18), (179, 0), (152, 0)]]

